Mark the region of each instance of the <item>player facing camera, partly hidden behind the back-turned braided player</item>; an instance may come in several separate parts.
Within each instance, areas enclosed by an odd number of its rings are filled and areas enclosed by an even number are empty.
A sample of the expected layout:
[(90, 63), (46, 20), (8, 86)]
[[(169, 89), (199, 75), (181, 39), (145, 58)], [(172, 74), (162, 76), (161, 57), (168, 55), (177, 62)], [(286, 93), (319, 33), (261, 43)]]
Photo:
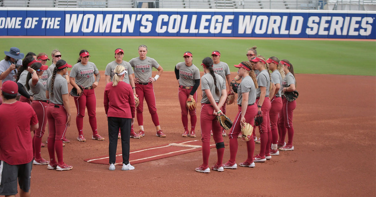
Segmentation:
[[(227, 63), (225, 62), (221, 62), (220, 59), (221, 59), (221, 53), (219, 51), (213, 51), (212, 54), (212, 59), (213, 59), (213, 71), (215, 73), (217, 73), (218, 75), (221, 75), (221, 77), (223, 77), (223, 80), (224, 82), (226, 83), (226, 80), (227, 80), (227, 84), (229, 86), (229, 93), (233, 92), (231, 86), (230, 86), (230, 83), (231, 83), (231, 77), (230, 77), (230, 68), (229, 68), (229, 65), (227, 65)], [(222, 112), (223, 114), (226, 114), (226, 102), (224, 102), (223, 106), (222, 106)], [(224, 129), (222, 130), (222, 136), (226, 136), (226, 131), (224, 131)]]

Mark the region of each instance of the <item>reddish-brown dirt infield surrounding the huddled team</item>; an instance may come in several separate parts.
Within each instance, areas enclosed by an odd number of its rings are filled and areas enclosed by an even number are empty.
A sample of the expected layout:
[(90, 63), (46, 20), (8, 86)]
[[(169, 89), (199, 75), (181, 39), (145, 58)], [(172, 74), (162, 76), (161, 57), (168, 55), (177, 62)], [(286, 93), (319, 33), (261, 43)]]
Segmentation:
[[(104, 71), (100, 74), (104, 76)], [(73, 165), (73, 170), (58, 172), (34, 165), (32, 196), (375, 196), (376, 77), (297, 74), (296, 79), (300, 96), (294, 111), (295, 150), (281, 152), (265, 163), (256, 163), (255, 168), (238, 167), (223, 173), (204, 174), (194, 171), (202, 164), (200, 151), (135, 164), (135, 170), (131, 171), (121, 171), (118, 166), (115, 171), (109, 171), (107, 165), (83, 161), (108, 155), (102, 77), (96, 89), (97, 122), (99, 134), (106, 140), (90, 140), (87, 113), (83, 134), (88, 140), (85, 143), (75, 140), (78, 135), (76, 107), (70, 97), (73, 118), (67, 138), (71, 143), (64, 147), (64, 162)], [(155, 136), (145, 105), (146, 133), (141, 139), (130, 140), (131, 151), (186, 140), (181, 137), (177, 86), (174, 72), (164, 72), (154, 86), (159, 120), (167, 137)], [(200, 91), (198, 95), (200, 101)], [(230, 105), (227, 111), (233, 119), (237, 106)], [(200, 136), (199, 122), (196, 130)], [(46, 139), (47, 135), (43, 141)], [(229, 143), (228, 137), (224, 142)], [(259, 147), (256, 144), (255, 152)], [(229, 155), (226, 146), (224, 162)], [(243, 162), (246, 155), (246, 144), (240, 140), (237, 162)], [(48, 159), (47, 148), (42, 148), (42, 157)], [(216, 151), (211, 149), (209, 164), (216, 160)]]

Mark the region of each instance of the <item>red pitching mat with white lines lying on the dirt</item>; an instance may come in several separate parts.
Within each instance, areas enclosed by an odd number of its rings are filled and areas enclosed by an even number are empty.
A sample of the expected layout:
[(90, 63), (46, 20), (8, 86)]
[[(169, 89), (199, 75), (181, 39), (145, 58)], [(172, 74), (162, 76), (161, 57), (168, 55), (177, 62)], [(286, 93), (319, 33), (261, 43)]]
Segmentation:
[[(202, 150), (201, 140), (180, 141), (161, 146), (149, 147), (146, 149), (134, 150), (129, 153), (129, 162), (138, 164), (157, 159), (163, 159), (171, 156), (182, 155), (185, 153)], [(227, 146), (227, 144), (225, 144)], [(215, 143), (211, 142), (210, 148), (214, 148)], [(94, 164), (109, 164), (109, 156), (99, 156), (96, 158), (85, 159), (84, 161)], [(116, 165), (122, 165), (122, 154), (116, 155)]]

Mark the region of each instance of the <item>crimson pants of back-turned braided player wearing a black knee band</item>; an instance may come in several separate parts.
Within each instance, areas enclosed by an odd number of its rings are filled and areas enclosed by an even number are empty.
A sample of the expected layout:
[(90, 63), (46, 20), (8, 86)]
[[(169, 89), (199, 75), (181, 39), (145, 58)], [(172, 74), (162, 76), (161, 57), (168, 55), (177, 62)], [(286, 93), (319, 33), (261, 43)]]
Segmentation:
[[(210, 131), (213, 131), (213, 139), (215, 144), (223, 143), (222, 127), (217, 121), (217, 117), (213, 115), (214, 107), (211, 104), (201, 105), (200, 126), (202, 141), (202, 165), (208, 167), (210, 155)], [(222, 165), (224, 147), (217, 149), (217, 165)]]

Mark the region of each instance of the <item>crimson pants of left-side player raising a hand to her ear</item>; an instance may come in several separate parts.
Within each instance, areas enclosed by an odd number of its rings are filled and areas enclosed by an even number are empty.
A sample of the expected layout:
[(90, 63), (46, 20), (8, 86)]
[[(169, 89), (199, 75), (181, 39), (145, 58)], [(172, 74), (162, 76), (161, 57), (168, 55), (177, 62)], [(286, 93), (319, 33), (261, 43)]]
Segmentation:
[(33, 156), (36, 159), (41, 159), (41, 143), (42, 137), (44, 135), (45, 127), (47, 124), (47, 102), (34, 100), (31, 103), (31, 107), (34, 109), (36, 113), (36, 117), (38, 118), (38, 129), (34, 131), (33, 136)]

